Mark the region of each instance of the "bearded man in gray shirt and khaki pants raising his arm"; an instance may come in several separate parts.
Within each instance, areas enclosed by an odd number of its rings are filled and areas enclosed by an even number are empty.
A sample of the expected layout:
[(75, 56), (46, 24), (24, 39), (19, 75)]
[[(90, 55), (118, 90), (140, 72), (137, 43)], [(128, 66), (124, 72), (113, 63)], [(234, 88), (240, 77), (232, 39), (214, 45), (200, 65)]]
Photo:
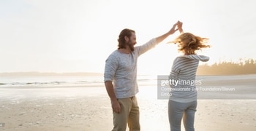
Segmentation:
[[(180, 29), (177, 22), (167, 33), (135, 47), (135, 31), (124, 29), (118, 37), (118, 49), (105, 61), (104, 82), (113, 109), (113, 131), (140, 130), (140, 112), (135, 95), (138, 93), (137, 60), (140, 55)], [(178, 29), (176, 29), (178, 26)]]

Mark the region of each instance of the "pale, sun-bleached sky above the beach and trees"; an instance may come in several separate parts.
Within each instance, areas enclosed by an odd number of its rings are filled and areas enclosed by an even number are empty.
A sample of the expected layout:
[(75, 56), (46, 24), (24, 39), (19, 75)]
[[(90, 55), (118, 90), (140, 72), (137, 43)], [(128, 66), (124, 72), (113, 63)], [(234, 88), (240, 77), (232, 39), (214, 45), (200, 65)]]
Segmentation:
[[(137, 45), (170, 30), (209, 39), (208, 65), (256, 60), (254, 0), (0, 0), (0, 72), (99, 72), (124, 28)], [(169, 74), (181, 55), (167, 37), (138, 59), (138, 74)], [(205, 64), (205, 63), (200, 63)]]

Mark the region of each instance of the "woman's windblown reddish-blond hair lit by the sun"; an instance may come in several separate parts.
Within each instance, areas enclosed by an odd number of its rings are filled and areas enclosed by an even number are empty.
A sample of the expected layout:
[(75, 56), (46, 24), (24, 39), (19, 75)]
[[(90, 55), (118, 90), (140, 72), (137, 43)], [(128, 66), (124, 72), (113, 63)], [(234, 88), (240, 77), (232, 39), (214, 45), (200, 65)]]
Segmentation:
[(207, 45), (208, 39), (195, 36), (192, 33), (182, 33), (178, 36), (173, 43), (178, 43), (178, 51), (184, 52), (184, 55), (193, 55), (196, 50), (210, 47)]

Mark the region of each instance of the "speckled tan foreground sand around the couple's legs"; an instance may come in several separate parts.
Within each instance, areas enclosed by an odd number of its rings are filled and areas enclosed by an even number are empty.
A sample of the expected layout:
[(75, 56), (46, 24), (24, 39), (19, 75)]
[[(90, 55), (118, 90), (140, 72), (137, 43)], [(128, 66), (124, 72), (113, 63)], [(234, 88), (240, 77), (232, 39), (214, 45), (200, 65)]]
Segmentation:
[[(0, 101), (0, 122), (5, 124), (0, 130), (96, 131), (113, 127), (108, 97)], [(167, 100), (152, 101), (138, 96), (138, 103), (141, 130), (169, 130)], [(256, 100), (197, 100), (195, 129), (255, 130), (255, 103)]]

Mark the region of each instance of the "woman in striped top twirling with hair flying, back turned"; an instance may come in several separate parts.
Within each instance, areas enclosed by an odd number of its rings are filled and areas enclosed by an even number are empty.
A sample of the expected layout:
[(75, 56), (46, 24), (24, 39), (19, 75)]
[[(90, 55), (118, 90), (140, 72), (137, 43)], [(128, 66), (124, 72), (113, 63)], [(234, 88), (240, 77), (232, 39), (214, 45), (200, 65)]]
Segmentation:
[[(181, 24), (182, 25), (182, 24)], [(178, 27), (180, 32), (181, 26)], [(181, 33), (173, 43), (178, 43), (178, 51), (184, 55), (176, 57), (170, 72), (169, 79), (178, 82), (170, 85), (170, 99), (168, 102), (168, 116), (171, 131), (181, 130), (183, 119), (186, 131), (194, 131), (195, 111), (197, 108), (197, 92), (195, 90), (195, 76), (199, 61), (206, 62), (209, 57), (197, 55), (195, 52), (206, 45), (208, 39), (195, 36), (192, 33)], [(200, 82), (198, 82), (200, 84)]]

